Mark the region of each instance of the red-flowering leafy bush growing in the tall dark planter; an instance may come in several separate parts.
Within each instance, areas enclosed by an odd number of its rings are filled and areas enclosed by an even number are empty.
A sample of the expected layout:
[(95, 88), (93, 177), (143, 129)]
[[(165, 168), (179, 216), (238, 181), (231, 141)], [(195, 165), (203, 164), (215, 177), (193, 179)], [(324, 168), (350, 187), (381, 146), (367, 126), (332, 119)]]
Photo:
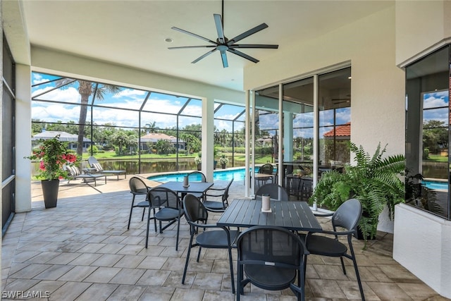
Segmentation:
[(57, 180), (69, 178), (69, 173), (63, 166), (73, 166), (77, 162), (77, 156), (71, 154), (66, 145), (59, 140), (59, 135), (51, 139), (39, 140), (39, 147), (34, 149), (31, 156), (25, 157), (31, 160), (39, 160), (40, 180)]

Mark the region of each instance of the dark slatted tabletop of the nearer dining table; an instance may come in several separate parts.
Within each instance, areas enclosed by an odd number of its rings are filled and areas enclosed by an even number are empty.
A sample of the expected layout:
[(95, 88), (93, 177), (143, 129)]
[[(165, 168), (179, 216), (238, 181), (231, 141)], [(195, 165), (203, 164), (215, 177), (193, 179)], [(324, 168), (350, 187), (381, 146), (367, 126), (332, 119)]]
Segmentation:
[(321, 232), (307, 202), (270, 201), (271, 212), (261, 211), (261, 200), (234, 199), (216, 223), (224, 227), (278, 226), (290, 231)]

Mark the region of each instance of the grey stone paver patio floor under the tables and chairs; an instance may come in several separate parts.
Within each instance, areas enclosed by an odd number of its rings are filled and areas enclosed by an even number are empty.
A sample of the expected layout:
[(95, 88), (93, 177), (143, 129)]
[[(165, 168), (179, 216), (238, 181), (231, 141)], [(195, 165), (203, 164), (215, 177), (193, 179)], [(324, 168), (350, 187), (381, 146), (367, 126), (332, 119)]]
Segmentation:
[[(174, 228), (160, 234), (153, 226), (149, 248), (144, 248), (146, 223), (138, 209), (127, 230), (130, 177), (109, 178), (95, 188), (79, 181), (61, 183), (53, 209), (44, 209), (39, 183), (33, 183), (32, 211), (16, 214), (2, 241), (2, 299), (235, 300), (223, 250), (202, 251), (201, 260), (192, 259), (187, 280), (181, 283), (189, 242), (184, 219), (178, 251)], [(234, 183), (230, 192), (230, 199), (242, 197), (242, 182)], [(210, 219), (218, 217), (211, 214)], [(321, 223), (328, 226), (327, 219)], [(447, 300), (397, 264), (392, 246), (393, 235), (388, 233), (378, 233), (367, 250), (355, 240), (366, 300)], [(352, 267), (347, 271), (348, 276), (342, 274), (337, 260), (310, 256), (307, 300), (360, 300)], [(242, 300), (295, 297), (290, 290), (271, 292), (248, 285)]]

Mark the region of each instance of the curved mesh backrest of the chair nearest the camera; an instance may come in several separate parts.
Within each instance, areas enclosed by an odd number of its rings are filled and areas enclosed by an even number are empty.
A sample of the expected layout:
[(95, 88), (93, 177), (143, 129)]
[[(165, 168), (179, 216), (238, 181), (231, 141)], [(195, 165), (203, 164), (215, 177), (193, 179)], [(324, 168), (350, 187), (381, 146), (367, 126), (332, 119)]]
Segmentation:
[(276, 226), (253, 226), (243, 231), (237, 239), (237, 251), (241, 262), (289, 264), (297, 269), (307, 253), (297, 234)]

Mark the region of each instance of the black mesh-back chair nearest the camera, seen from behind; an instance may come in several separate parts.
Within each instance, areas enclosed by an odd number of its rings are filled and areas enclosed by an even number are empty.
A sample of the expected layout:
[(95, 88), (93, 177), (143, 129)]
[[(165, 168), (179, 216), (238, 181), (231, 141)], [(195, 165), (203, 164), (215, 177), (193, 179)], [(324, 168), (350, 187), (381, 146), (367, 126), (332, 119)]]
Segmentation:
[(297, 300), (304, 300), (308, 252), (295, 233), (280, 227), (254, 226), (238, 236), (237, 251), (237, 301), (249, 282), (264, 290), (290, 288)]

